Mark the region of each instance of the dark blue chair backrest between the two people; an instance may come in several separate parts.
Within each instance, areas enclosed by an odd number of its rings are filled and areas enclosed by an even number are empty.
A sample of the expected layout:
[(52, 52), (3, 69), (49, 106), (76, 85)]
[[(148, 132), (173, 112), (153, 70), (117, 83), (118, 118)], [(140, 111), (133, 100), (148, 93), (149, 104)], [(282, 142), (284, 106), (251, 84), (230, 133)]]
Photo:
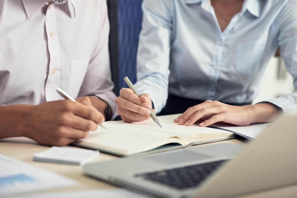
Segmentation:
[(114, 92), (127, 87), (123, 78), (136, 82), (136, 54), (142, 23), (143, 0), (108, 0), (109, 53)]

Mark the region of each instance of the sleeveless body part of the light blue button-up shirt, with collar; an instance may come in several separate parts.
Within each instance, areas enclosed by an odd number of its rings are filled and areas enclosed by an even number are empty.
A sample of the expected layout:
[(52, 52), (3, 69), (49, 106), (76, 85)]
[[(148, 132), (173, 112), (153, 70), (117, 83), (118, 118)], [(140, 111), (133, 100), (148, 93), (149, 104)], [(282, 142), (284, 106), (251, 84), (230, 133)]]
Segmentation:
[(278, 47), (274, 20), (288, 1), (245, 1), (223, 32), (209, 0), (173, 2), (169, 94), (252, 102)]

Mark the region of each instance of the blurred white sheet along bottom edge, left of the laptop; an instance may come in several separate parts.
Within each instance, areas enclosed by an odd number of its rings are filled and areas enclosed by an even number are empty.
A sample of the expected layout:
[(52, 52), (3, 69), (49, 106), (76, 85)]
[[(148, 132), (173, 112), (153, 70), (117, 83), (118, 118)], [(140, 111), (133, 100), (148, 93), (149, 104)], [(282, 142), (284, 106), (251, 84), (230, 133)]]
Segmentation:
[(53, 198), (53, 197), (63, 197), (63, 198), (148, 198), (141, 194), (136, 194), (132, 191), (125, 189), (104, 189), (104, 190), (80, 190), (80, 191), (68, 191), (59, 193), (46, 193), (46, 194), (36, 194), (28, 196), (20, 196), (16, 198)]

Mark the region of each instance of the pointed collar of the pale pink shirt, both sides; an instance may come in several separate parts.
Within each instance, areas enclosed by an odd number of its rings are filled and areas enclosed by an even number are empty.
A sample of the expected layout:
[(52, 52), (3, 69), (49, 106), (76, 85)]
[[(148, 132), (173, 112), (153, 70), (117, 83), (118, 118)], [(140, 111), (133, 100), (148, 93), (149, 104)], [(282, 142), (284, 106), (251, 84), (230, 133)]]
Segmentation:
[[(47, 0), (22, 0), (24, 9), (26, 11), (27, 18), (30, 19), (37, 10), (39, 10), (46, 2)], [(69, 17), (74, 18), (75, 17), (75, 4), (73, 0), (67, 0), (66, 2), (68, 4), (69, 11), (67, 14)]]

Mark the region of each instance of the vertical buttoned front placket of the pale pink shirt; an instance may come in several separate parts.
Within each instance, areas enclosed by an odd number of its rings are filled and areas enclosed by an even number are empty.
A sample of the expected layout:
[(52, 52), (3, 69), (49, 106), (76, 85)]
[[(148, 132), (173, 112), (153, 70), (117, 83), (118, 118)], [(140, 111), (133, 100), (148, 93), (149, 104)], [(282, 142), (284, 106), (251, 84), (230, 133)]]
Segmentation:
[(59, 87), (61, 76), (59, 35), (54, 4), (48, 5), (45, 14), (45, 29), (49, 52), (49, 71), (45, 82), (45, 99), (48, 102), (57, 99), (56, 88)]

